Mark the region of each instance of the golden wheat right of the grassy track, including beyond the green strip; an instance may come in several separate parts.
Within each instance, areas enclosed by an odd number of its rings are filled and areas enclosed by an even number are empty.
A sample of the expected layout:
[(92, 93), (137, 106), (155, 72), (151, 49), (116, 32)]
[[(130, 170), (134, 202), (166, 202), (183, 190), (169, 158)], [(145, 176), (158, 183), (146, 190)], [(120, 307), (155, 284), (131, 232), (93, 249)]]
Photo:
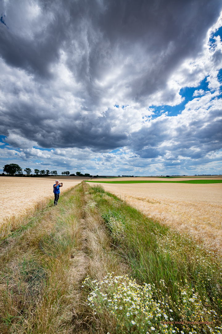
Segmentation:
[[(132, 180), (132, 178), (128, 179)], [(151, 178), (139, 179), (151, 180)], [(193, 178), (178, 178), (178, 180), (185, 179)], [(152, 178), (152, 180), (165, 179)], [(191, 232), (197, 239), (203, 238), (205, 244), (214, 249), (222, 249), (221, 183), (102, 183), (102, 186), (106, 191), (125, 199), (127, 203), (147, 216), (156, 218), (180, 231)]]

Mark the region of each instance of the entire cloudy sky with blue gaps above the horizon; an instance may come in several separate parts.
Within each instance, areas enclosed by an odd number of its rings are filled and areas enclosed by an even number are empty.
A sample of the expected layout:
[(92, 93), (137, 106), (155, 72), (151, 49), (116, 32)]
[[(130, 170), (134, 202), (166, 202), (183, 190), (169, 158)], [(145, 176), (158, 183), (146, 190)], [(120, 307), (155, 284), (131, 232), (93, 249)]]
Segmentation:
[(0, 170), (222, 174), (221, 0), (0, 0)]

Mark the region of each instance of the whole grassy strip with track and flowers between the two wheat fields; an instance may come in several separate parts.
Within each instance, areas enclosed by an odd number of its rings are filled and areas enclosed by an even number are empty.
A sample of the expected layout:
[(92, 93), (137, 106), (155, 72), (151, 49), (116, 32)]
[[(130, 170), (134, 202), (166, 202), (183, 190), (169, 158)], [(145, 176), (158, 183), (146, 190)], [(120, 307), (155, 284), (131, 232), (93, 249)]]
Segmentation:
[(0, 332), (221, 333), (221, 272), (218, 254), (83, 182), (2, 239)]

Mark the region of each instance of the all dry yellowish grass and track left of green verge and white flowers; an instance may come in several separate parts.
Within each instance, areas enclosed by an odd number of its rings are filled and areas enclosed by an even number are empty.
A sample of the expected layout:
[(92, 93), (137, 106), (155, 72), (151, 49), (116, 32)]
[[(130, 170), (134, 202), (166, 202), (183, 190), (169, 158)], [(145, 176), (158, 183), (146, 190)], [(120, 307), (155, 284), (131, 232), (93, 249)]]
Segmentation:
[(1, 242), (1, 333), (91, 331), (81, 316), (81, 282), (87, 274), (101, 279), (109, 270), (121, 272), (121, 266), (85, 192), (81, 184), (58, 206), (49, 201)]

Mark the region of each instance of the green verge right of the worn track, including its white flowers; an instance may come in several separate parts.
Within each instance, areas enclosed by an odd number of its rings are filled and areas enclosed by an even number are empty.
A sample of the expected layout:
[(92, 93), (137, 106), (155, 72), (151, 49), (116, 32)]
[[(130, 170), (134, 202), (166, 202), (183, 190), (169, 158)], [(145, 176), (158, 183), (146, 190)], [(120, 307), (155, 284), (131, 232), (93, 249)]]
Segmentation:
[(129, 267), (129, 276), (85, 279), (91, 317), (103, 323), (109, 314), (110, 333), (221, 333), (221, 256), (147, 219), (100, 185), (89, 194)]

